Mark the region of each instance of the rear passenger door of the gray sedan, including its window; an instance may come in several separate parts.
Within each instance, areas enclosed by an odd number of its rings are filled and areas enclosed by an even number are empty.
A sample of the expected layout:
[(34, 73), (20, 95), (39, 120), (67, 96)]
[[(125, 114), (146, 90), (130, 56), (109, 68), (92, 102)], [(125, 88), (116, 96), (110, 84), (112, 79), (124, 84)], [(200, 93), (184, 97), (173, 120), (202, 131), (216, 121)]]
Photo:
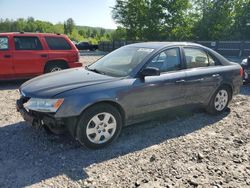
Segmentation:
[(184, 47), (183, 52), (187, 68), (187, 103), (207, 102), (221, 80), (219, 62), (202, 48)]

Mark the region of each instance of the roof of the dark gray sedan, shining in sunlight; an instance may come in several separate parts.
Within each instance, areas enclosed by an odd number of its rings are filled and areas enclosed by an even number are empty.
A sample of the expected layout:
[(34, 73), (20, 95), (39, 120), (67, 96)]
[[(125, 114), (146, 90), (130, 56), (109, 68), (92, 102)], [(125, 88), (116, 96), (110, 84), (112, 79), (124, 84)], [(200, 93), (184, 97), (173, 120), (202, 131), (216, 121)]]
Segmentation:
[(192, 42), (142, 42), (142, 43), (130, 44), (128, 46), (161, 49), (161, 48), (170, 47), (170, 46), (189, 46), (189, 45), (201, 47), (200, 44), (196, 44)]

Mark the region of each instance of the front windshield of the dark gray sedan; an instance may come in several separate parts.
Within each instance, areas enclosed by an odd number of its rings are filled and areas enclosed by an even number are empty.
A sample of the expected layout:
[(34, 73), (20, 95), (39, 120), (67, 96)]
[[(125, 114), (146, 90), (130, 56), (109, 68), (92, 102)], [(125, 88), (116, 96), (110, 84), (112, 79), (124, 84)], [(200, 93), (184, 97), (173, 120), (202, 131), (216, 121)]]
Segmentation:
[(128, 76), (154, 49), (126, 46), (104, 56), (87, 69), (115, 77)]

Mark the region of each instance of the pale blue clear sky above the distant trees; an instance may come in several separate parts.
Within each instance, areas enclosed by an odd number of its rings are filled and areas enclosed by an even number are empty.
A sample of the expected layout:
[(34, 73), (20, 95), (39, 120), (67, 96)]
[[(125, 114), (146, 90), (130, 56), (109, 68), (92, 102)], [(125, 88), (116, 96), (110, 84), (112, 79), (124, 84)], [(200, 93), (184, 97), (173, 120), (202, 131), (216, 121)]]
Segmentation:
[(0, 18), (33, 17), (52, 23), (73, 18), (76, 25), (115, 29), (115, 0), (0, 0)]

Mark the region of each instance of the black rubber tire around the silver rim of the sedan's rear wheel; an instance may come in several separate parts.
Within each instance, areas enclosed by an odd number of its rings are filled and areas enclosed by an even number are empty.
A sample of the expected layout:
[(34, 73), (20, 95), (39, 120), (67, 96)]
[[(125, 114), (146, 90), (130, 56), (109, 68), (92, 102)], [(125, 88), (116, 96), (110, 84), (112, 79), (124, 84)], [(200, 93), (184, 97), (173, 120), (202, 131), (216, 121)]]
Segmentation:
[[(218, 101), (217, 101), (217, 95), (219, 93), (222, 93), (222, 91), (223, 91), (223, 93), (226, 92), (226, 94), (227, 94), (227, 101), (225, 103), (222, 102), (222, 105), (220, 106), (221, 109), (218, 109), (218, 105), (216, 107), (215, 102), (218, 103)], [(207, 110), (207, 112), (209, 114), (212, 114), (212, 115), (221, 114), (221, 113), (223, 113), (228, 108), (228, 104), (229, 104), (229, 102), (230, 102), (231, 99), (232, 99), (232, 91), (231, 91), (231, 89), (229, 87), (227, 87), (227, 86), (221, 86), (219, 89), (216, 90), (216, 92), (212, 96), (212, 98), (211, 98), (211, 100), (210, 100), (210, 102), (209, 102), (206, 110)]]

